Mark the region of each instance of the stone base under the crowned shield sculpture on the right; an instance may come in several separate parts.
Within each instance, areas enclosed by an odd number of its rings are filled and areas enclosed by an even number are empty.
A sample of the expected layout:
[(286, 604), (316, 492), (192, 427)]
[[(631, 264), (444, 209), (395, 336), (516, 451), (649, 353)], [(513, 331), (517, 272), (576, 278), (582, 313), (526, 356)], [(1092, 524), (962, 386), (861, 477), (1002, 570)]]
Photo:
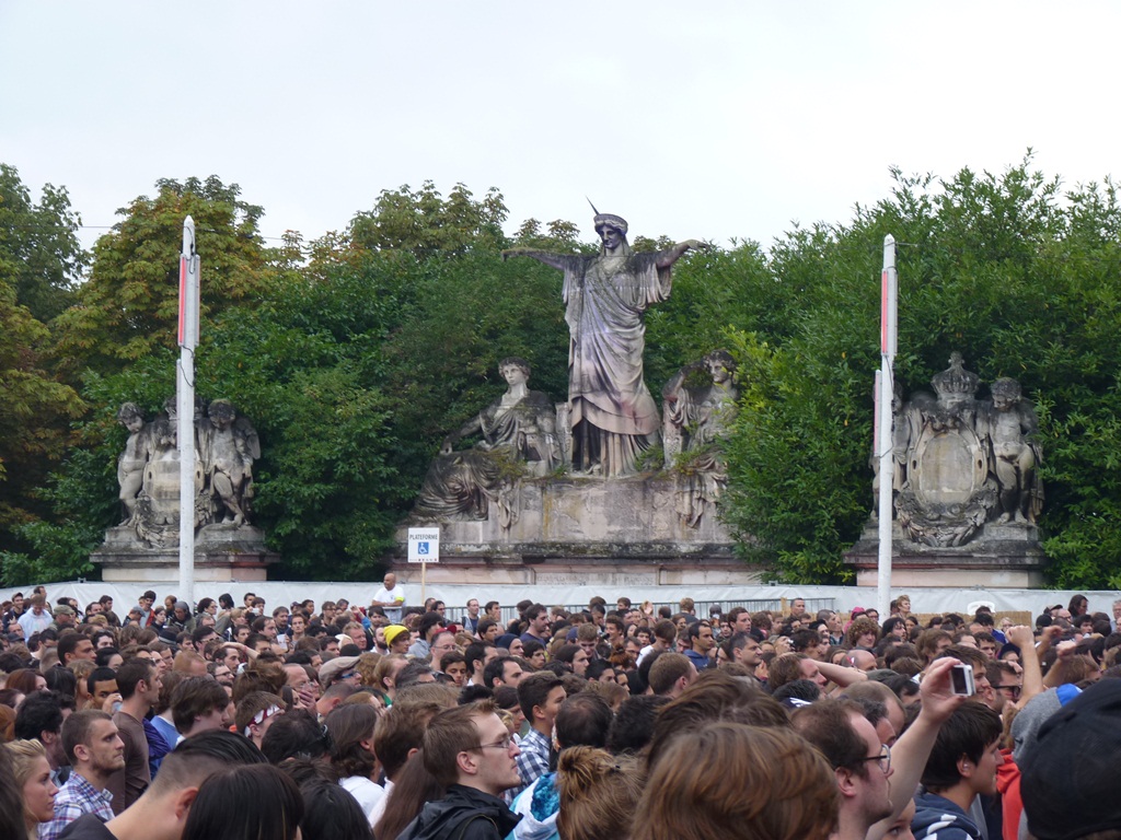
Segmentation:
[[(879, 533), (869, 522), (860, 541), (845, 553), (856, 570), (858, 586), (876, 586)], [(1046, 558), (1039, 531), (1028, 523), (986, 523), (962, 547), (923, 545), (906, 538), (892, 523), (891, 586), (1035, 589), (1044, 586)]]

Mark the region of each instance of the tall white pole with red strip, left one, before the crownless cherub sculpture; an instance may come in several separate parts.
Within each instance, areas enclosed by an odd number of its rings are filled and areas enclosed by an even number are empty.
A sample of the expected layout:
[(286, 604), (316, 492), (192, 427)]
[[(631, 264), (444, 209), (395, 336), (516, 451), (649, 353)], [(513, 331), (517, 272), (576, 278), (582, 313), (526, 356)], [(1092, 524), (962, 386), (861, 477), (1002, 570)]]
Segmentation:
[(194, 609), (195, 581), (195, 347), (198, 346), (198, 254), (195, 222), (183, 222), (179, 256), (179, 364), (176, 412), (179, 449), (179, 598)]

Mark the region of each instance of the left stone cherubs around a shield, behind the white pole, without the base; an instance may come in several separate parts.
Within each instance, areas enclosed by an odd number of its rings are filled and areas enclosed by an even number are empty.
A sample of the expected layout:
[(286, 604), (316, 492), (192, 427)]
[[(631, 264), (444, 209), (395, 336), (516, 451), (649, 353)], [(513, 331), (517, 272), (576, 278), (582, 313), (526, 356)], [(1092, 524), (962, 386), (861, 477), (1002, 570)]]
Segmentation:
[[(117, 461), (123, 521), (120, 528), (137, 539), (163, 548), (178, 539), (179, 454), (175, 398), (165, 413), (146, 421), (136, 403), (127, 402), (118, 421), (129, 430)], [(229, 400), (195, 407), (195, 529), (249, 521), (253, 496), (253, 461), (260, 442), (252, 423), (239, 417)]]

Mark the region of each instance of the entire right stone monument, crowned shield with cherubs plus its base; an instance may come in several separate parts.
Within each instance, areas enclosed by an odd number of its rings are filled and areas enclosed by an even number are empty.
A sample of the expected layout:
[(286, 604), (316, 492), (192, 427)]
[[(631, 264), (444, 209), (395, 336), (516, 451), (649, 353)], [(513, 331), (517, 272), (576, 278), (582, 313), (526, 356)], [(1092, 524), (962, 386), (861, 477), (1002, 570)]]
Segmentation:
[[(892, 584), (1041, 586), (1035, 409), (1008, 379), (991, 385), (991, 400), (978, 400), (980, 379), (958, 353), (932, 384), (937, 398), (919, 392), (896, 404)], [(878, 553), (873, 507), (845, 554), (859, 584), (876, 582)]]

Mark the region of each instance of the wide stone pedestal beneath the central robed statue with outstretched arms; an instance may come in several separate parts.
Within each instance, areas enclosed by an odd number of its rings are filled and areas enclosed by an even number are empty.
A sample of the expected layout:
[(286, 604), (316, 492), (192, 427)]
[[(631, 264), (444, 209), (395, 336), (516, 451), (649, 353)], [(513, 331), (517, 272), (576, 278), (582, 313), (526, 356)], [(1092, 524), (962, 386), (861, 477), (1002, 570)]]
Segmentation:
[(487, 520), (405, 523), (395, 571), (419, 579), (419, 567), (405, 562), (407, 529), (436, 524), (441, 558), (427, 569), (434, 584), (760, 584), (761, 571), (733, 556), (734, 541), (715, 510), (697, 528), (678, 514), (684, 489), (673, 475), (522, 480), (509, 529), (493, 505)]

